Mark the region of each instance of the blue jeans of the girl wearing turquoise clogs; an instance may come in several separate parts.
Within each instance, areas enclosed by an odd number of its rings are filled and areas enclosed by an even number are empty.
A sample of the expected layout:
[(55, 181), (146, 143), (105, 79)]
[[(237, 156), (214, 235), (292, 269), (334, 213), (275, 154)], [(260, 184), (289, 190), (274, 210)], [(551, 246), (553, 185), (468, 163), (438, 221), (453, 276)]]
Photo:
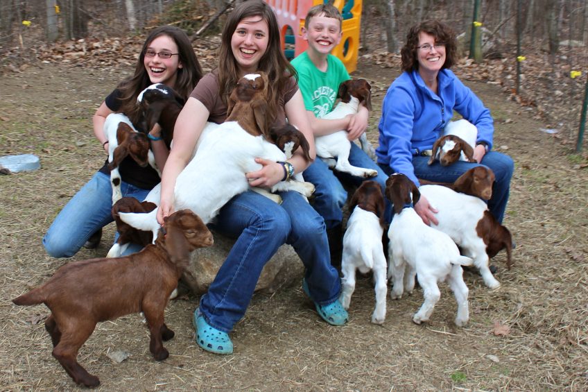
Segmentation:
[(261, 269), (282, 244), (293, 246), (302, 259), (315, 302), (328, 305), (338, 299), (341, 283), (331, 267), (325, 222), (297, 192), (279, 195), (281, 205), (246, 191), (221, 208), (211, 224), (220, 234), (236, 238), (208, 292), (200, 299), (200, 312), (218, 330), (231, 332), (243, 318)]

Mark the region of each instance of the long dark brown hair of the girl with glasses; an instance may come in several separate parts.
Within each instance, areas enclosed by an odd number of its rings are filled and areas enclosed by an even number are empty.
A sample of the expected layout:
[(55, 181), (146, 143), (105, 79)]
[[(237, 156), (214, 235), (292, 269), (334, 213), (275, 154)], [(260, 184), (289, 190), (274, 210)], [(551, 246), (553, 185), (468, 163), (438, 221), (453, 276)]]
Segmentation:
[(135, 74), (123, 80), (116, 87), (121, 92), (120, 112), (126, 114), (134, 124), (139, 123), (141, 116), (139, 106), (137, 105), (137, 96), (146, 87), (151, 85), (151, 80), (144, 65), (145, 51), (151, 42), (161, 35), (167, 35), (178, 45), (178, 53), (180, 53), (178, 56), (183, 66), (176, 70), (177, 77), (173, 90), (180, 94), (184, 101), (186, 101), (194, 87), (196, 87), (198, 80), (202, 78), (202, 67), (200, 67), (196, 53), (194, 53), (194, 49), (186, 33), (181, 28), (175, 26), (160, 26), (155, 28), (143, 44), (143, 48), (137, 59), (137, 65), (135, 66)]

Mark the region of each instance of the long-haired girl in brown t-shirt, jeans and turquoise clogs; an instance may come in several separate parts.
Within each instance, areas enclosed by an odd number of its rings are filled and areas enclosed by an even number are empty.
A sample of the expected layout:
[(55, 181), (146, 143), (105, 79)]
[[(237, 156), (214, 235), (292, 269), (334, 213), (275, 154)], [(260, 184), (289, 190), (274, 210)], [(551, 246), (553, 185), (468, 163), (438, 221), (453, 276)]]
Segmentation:
[[(162, 173), (159, 223), (174, 210), (175, 180), (189, 162), (206, 121), (225, 120), (227, 98), (245, 74), (264, 71), (268, 75), (268, 103), (273, 106), (268, 110), (273, 113), (270, 122), (283, 124), (287, 118), (297, 126), (314, 158), (302, 94), (295, 71), (280, 47), (276, 16), (267, 3), (249, 0), (234, 8), (223, 28), (218, 57), (218, 67), (200, 80), (175, 124), (176, 142)], [(282, 164), (262, 159), (257, 162), (263, 168), (246, 173), (253, 187), (271, 187), (284, 177)], [(295, 152), (288, 163), (296, 173), (310, 164), (300, 152)], [(254, 191), (245, 191), (221, 208), (211, 224), (216, 232), (236, 241), (193, 315), (196, 342), (202, 349), (217, 354), (233, 352), (228, 334), (245, 315), (261, 269), (283, 244), (291, 244), (306, 266), (303, 286), (320, 316), (331, 325), (347, 322), (347, 312), (338, 300), (341, 284), (331, 266), (325, 222), (301, 194), (287, 191), (280, 196), (283, 203), (278, 205)]]

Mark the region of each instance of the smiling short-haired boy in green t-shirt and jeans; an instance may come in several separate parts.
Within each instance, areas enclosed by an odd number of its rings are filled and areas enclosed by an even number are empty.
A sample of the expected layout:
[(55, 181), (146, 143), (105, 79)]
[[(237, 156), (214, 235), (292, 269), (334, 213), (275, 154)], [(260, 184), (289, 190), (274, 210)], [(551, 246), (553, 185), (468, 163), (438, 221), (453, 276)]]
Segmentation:
[[(322, 119), (333, 110), (340, 83), (349, 79), (343, 62), (331, 55), (331, 51), (339, 44), (343, 35), (342, 24), (343, 18), (334, 6), (320, 4), (312, 7), (302, 28), (303, 38), (308, 41), (309, 47), (292, 60), (292, 65), (298, 73), (298, 86), (314, 135), (329, 135), (346, 130), (349, 140), (354, 140), (367, 129), (369, 112), (363, 103), (359, 105), (357, 114), (349, 114), (343, 119)], [(379, 182), (382, 191), (386, 189), (388, 176), (354, 143), (351, 143), (349, 163), (356, 167), (376, 170), (378, 176), (372, 180)], [(325, 162), (317, 158), (304, 170), (304, 180), (315, 185), (313, 207), (325, 219), (331, 248), (331, 263), (338, 266), (342, 247), (343, 205), (347, 201), (347, 191), (341, 182), (358, 186), (364, 179), (331, 171)], [(389, 218), (389, 203), (386, 210), (386, 216)]]

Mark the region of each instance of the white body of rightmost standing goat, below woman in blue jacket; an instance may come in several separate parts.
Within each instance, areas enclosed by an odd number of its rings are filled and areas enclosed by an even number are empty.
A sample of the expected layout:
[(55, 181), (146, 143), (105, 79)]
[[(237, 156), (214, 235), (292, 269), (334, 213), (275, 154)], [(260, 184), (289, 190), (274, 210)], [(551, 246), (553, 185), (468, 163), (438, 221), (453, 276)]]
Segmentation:
[(433, 228), (449, 235), (462, 248), (464, 255), (474, 259), (474, 265), (487, 287), (499, 287), (500, 282), (488, 268), (487, 244), (476, 230), (478, 222), (488, 210), (486, 203), (477, 197), (461, 194), (441, 185), (422, 185), (419, 191), (439, 211), (435, 214), (439, 224), (431, 223)]

